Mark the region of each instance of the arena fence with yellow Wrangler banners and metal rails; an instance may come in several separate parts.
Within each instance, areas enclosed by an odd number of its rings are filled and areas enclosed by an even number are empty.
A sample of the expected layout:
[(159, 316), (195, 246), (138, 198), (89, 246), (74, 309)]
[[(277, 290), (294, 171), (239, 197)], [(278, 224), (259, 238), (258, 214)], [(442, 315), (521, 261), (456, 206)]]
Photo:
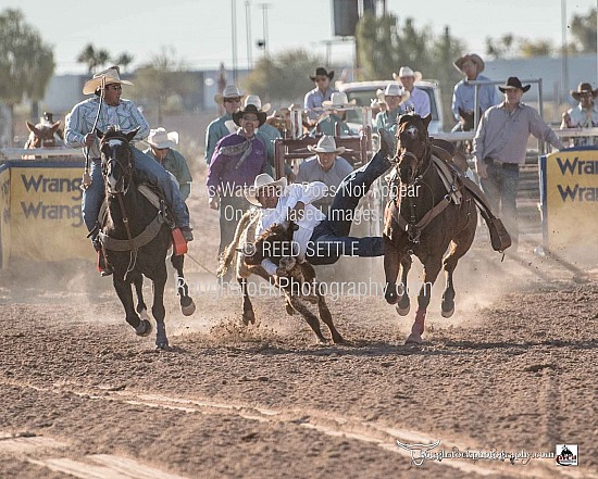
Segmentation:
[[(538, 85), (541, 115), (541, 79), (522, 83)], [(476, 88), (477, 104), (478, 87), (487, 81), (471, 84)], [(335, 135), (337, 146), (351, 150), (347, 159), (354, 167), (365, 164), (377, 149), (371, 109), (358, 108), (362, 113), (359, 135), (341, 136), (338, 129)], [(313, 154), (308, 146), (317, 142), (317, 138), (302, 136), (300, 109), (291, 111), (290, 122), (286, 138), (274, 144), (277, 178), (285, 174), (286, 164), (296, 171), (303, 159)], [(598, 136), (598, 128), (556, 133), (562, 138), (589, 137)], [(471, 140), (474, 135), (472, 130), (434, 137), (456, 142)], [(469, 161), (473, 169), (472, 159)], [(11, 257), (95, 260), (82, 219), (84, 163), (79, 149), (0, 149), (0, 268), (8, 267)], [(377, 214), (362, 215), (363, 222), (356, 228), (356, 235), (382, 235), (386, 202), (383, 181), (384, 178), (378, 179), (372, 194), (360, 203), (363, 211)], [(537, 241), (546, 251), (558, 253), (571, 243), (594, 247), (598, 236), (598, 147), (547, 153), (545, 144), (538, 141), (538, 149), (528, 150), (520, 171), (518, 214), (522, 219), (522, 235)]]

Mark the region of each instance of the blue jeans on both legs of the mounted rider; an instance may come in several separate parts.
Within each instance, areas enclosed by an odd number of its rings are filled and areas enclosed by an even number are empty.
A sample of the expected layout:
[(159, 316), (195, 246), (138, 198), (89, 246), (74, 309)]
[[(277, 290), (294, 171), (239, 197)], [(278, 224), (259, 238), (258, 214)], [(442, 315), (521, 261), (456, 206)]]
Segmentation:
[[(164, 192), (166, 203), (172, 209), (176, 226), (189, 226), (189, 212), (180, 196), (173, 176), (164, 167), (142, 151), (133, 148), (135, 157), (135, 181), (157, 185)], [(102, 163), (100, 159), (90, 160), (91, 185), (83, 192), (83, 220), (91, 231), (98, 220), (98, 214), (104, 197)]]

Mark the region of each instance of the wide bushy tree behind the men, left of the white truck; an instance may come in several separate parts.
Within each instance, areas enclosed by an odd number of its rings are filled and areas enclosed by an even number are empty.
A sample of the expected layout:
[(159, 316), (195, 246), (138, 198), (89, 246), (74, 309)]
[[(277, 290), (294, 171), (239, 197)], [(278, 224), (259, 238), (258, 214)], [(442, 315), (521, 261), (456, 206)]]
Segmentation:
[(301, 102), (313, 88), (309, 76), (324, 60), (306, 50), (287, 50), (275, 56), (261, 58), (242, 81), (242, 88), (258, 94), (262, 102)]

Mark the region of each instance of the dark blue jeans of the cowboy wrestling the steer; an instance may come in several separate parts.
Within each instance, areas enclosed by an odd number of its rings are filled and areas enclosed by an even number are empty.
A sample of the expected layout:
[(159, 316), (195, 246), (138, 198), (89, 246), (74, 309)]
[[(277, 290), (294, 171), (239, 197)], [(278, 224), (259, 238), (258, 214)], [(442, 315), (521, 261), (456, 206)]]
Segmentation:
[(326, 218), (310, 238), (306, 257), (313, 265), (333, 264), (341, 255), (382, 256), (382, 237), (350, 237), (354, 210), (372, 184), (390, 167), (382, 154), (349, 174), (338, 186)]

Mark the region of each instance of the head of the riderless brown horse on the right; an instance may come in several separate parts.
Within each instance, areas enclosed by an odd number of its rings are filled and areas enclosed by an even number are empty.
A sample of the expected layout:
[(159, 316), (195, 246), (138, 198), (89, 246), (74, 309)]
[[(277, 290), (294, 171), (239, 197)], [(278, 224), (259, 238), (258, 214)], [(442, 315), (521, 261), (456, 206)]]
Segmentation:
[(432, 116), (401, 115), (397, 126), (397, 169), (403, 185), (412, 185), (424, 173), (432, 152), (427, 126)]

